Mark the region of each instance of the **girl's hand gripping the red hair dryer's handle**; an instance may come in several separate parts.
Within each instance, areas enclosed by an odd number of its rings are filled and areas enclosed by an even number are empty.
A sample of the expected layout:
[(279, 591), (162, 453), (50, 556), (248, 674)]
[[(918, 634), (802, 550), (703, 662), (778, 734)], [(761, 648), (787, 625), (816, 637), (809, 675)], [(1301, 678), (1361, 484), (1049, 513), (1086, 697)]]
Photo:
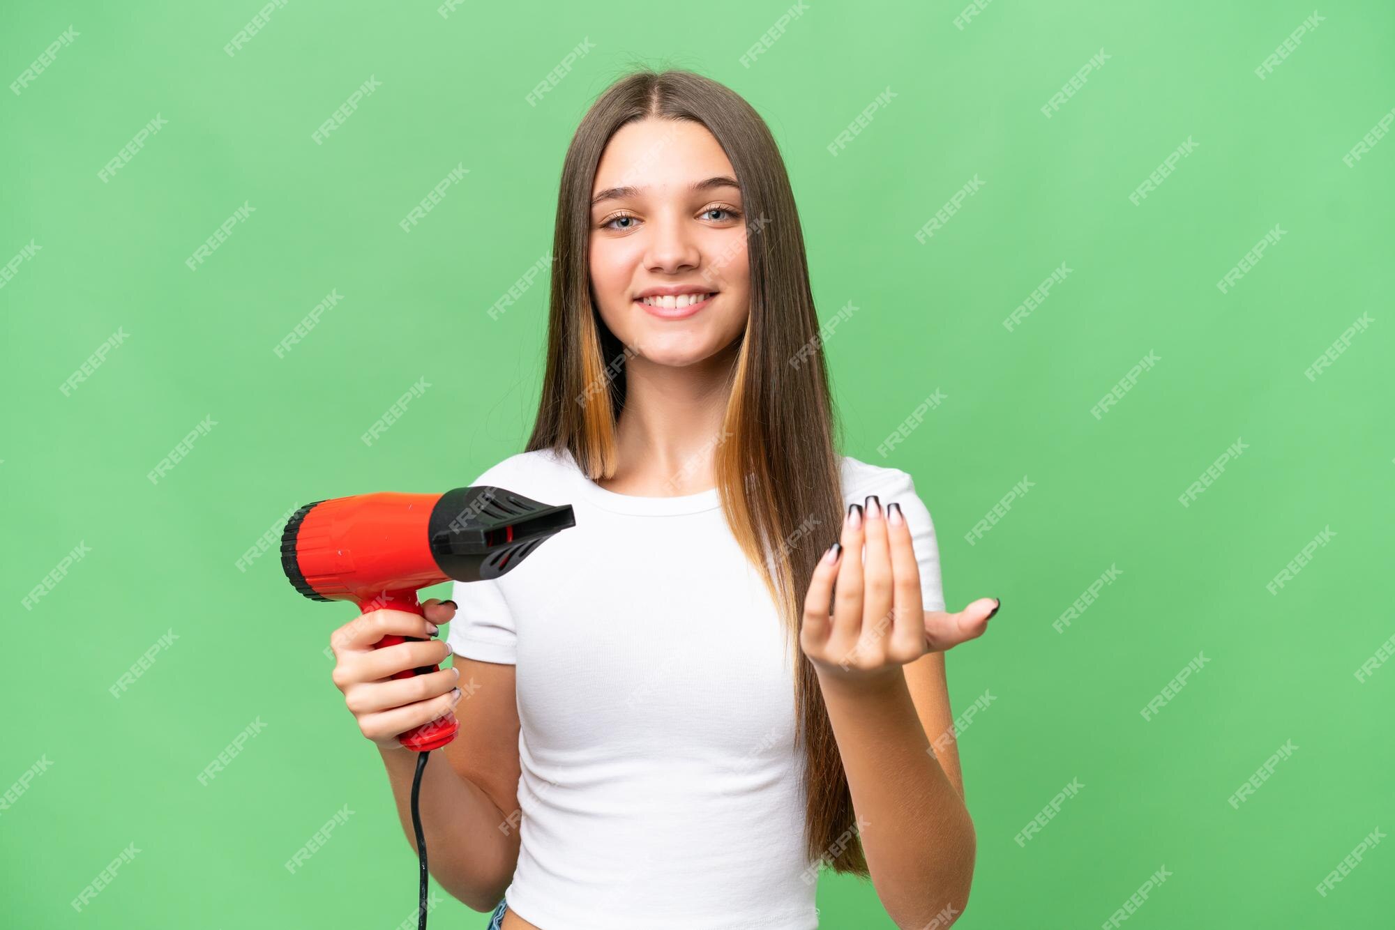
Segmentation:
[[(335, 687), (343, 692), (359, 731), (379, 749), (405, 749), (398, 742), (399, 733), (452, 714), (460, 700), (456, 687), (460, 672), (455, 668), (392, 678), (396, 672), (439, 665), (451, 655), (444, 640), (431, 637), (437, 634), (437, 625), (449, 623), (455, 616), (455, 601), (431, 598), (421, 607), (424, 618), (407, 611), (370, 611), (329, 634)], [(374, 643), (391, 634), (424, 637), (425, 641), (374, 648)]]

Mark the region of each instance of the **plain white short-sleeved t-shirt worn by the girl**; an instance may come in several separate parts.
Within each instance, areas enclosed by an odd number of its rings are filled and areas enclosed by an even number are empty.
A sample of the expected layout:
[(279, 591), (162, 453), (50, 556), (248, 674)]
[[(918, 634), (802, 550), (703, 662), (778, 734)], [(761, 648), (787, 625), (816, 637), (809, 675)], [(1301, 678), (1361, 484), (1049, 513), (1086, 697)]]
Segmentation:
[[(923, 608), (944, 609), (911, 477), (847, 456), (841, 468), (844, 508), (900, 502)], [(817, 927), (790, 647), (718, 491), (615, 494), (550, 450), (470, 484), (569, 503), (576, 519), (508, 574), (452, 586), (451, 650), (518, 666), (509, 908), (541, 930)], [(822, 552), (840, 531), (792, 545)]]

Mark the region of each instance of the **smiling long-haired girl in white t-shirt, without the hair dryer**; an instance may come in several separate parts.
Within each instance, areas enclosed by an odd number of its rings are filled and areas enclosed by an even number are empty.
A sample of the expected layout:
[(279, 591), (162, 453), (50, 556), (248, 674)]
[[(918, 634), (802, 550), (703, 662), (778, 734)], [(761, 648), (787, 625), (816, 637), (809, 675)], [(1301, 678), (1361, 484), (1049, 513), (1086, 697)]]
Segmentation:
[(688, 71), (615, 82), (566, 153), (554, 255), (533, 435), (472, 484), (576, 526), (425, 620), (336, 633), (409, 844), (395, 736), (463, 694), (420, 810), (432, 874), (490, 927), (809, 930), (824, 864), (898, 927), (949, 926), (975, 837), (943, 653), (997, 601), (944, 612), (911, 477), (837, 452), (766, 124)]

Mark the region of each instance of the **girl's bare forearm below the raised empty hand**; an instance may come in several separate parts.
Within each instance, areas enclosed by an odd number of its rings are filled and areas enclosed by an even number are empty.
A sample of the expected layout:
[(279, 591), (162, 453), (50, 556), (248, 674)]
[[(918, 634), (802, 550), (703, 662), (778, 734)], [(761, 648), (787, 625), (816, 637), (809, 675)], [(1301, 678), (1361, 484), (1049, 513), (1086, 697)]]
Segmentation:
[(820, 675), (819, 683), (882, 906), (914, 930), (946, 908), (957, 915), (974, 876), (974, 821), (929, 752), (905, 676), (866, 685)]

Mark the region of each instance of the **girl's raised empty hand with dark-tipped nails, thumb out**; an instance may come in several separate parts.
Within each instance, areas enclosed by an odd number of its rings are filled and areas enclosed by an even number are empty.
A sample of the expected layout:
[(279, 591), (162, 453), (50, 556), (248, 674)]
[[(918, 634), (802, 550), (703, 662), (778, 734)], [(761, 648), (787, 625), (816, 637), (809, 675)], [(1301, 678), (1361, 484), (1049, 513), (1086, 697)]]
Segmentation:
[(799, 647), (820, 676), (862, 683), (886, 680), (926, 653), (982, 636), (1000, 604), (989, 597), (958, 613), (925, 611), (911, 528), (900, 506), (891, 502), (883, 514), (873, 495), (865, 510), (857, 503), (848, 508), (841, 541), (813, 570), (799, 627)]

